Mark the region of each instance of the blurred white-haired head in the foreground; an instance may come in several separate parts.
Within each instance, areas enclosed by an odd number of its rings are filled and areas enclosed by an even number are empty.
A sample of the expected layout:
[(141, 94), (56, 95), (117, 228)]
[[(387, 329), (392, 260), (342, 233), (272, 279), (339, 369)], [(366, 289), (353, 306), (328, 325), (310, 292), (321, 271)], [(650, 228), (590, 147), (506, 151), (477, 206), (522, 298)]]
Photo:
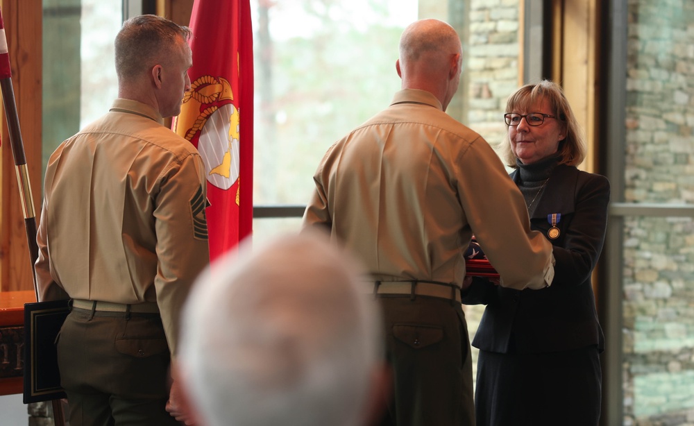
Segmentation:
[(185, 307), (180, 345), (200, 423), (357, 426), (378, 416), (380, 313), (360, 277), (313, 233), (214, 262)]

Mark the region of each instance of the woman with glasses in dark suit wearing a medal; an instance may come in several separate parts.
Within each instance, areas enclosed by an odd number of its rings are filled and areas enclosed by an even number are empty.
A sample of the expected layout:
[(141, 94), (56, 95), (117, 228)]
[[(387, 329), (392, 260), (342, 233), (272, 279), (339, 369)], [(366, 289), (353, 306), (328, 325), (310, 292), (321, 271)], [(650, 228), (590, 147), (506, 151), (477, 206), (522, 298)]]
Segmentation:
[(477, 425), (598, 425), (604, 336), (591, 273), (605, 229), (609, 182), (577, 169), (584, 138), (561, 87), (512, 94), (502, 160), (527, 203), (531, 228), (554, 246), (555, 278), (517, 291), (475, 277), (463, 303), (485, 304), (473, 346)]

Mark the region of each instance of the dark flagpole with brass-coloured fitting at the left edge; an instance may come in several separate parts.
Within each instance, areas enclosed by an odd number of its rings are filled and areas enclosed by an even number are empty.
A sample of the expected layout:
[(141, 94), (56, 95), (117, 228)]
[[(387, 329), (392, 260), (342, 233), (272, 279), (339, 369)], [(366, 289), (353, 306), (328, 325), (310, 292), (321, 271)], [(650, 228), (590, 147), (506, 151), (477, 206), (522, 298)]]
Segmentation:
[[(36, 271), (34, 265), (39, 255), (39, 248), (36, 243), (36, 216), (34, 210), (34, 199), (31, 194), (31, 182), (26, 167), (26, 156), (24, 155), (24, 142), (22, 141), (22, 131), (19, 130), (19, 114), (17, 114), (17, 103), (15, 102), (15, 90), (12, 88), (12, 70), (10, 68), (10, 55), (7, 48), (7, 37), (5, 36), (5, 24), (3, 23), (2, 13), (0, 12), (0, 91), (2, 92), (3, 107), (7, 120), (8, 134), (10, 136), (10, 146), (12, 146), (12, 157), (15, 159), (15, 172), (17, 173), (17, 185), (19, 185), (19, 198), (22, 202), (22, 213), (24, 214), (24, 228), (26, 229), (26, 242), (28, 244), (29, 259), (31, 261), (31, 278), (34, 285), (36, 300), (39, 300), (38, 285), (36, 282)], [(28, 330), (25, 330), (28, 332)], [(62, 411), (62, 401), (52, 400), (53, 404), (53, 423), (56, 426), (65, 425), (65, 415)]]

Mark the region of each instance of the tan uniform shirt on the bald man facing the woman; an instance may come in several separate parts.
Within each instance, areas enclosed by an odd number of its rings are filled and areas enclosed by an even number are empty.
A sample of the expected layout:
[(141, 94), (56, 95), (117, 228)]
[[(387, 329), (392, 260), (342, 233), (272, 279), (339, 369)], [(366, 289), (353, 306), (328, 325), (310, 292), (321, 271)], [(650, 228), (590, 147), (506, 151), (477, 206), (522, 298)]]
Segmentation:
[(328, 150), (314, 180), (305, 225), (328, 225), (376, 280), (461, 285), (474, 233), (505, 287), (552, 282), (552, 246), (530, 230), (498, 156), (429, 92), (398, 92)]

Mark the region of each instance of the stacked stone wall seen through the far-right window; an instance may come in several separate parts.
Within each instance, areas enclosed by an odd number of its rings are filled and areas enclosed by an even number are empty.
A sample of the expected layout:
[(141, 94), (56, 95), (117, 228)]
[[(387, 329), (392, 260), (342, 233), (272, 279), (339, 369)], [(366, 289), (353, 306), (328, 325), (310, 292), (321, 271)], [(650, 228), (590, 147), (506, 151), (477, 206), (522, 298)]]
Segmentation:
[[(694, 2), (629, 0), (625, 201), (694, 202)], [(694, 425), (694, 221), (625, 218), (625, 425)]]

